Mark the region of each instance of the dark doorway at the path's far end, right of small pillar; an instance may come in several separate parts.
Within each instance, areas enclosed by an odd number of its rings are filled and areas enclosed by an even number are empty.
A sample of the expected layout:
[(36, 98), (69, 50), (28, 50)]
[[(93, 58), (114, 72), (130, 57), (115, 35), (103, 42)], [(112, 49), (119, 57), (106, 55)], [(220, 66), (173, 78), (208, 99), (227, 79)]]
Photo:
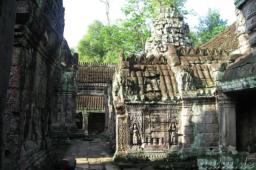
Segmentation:
[(89, 112), (88, 117), (88, 133), (99, 134), (105, 130), (105, 113)]

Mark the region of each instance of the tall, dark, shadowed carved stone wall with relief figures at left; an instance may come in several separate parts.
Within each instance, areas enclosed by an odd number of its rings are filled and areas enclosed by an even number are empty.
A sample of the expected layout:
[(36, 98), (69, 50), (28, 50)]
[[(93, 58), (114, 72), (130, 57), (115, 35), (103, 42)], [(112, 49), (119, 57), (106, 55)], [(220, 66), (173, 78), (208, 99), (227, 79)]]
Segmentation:
[(64, 10), (58, 0), (16, 0), (12, 66), (4, 109), (5, 169), (49, 169), (52, 84), (60, 59)]

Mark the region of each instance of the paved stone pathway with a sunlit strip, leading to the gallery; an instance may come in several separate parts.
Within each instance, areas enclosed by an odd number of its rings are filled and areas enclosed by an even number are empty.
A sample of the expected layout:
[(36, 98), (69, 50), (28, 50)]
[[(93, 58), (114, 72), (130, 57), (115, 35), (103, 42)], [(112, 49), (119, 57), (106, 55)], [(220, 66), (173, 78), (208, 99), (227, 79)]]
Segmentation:
[(70, 145), (63, 159), (76, 159), (75, 170), (121, 170), (113, 165), (110, 145), (103, 135), (92, 141), (78, 140)]

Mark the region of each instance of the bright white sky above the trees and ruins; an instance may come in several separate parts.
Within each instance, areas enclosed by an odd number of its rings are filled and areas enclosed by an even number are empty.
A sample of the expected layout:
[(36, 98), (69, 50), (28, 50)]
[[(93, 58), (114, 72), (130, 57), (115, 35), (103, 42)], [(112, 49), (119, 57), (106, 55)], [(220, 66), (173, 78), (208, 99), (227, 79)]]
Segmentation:
[[(110, 22), (114, 23), (118, 18), (124, 18), (120, 7), (124, 6), (124, 0), (112, 0), (109, 9)], [(198, 17), (204, 16), (208, 7), (220, 10), (220, 17), (228, 19), (228, 25), (236, 21), (234, 0), (187, 0), (186, 10), (194, 9), (197, 16), (186, 15), (185, 22), (190, 29), (198, 24)], [(86, 34), (87, 26), (94, 20), (106, 23), (106, 5), (100, 0), (63, 0), (65, 7), (64, 37), (69, 47), (75, 47)]]

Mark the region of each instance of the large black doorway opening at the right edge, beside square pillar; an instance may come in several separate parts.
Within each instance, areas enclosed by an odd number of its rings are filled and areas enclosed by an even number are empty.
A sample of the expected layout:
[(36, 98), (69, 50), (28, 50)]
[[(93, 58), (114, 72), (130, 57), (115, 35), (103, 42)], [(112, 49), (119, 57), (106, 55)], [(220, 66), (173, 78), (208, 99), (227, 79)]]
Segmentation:
[(236, 147), (256, 152), (256, 91), (239, 93), (236, 100)]

